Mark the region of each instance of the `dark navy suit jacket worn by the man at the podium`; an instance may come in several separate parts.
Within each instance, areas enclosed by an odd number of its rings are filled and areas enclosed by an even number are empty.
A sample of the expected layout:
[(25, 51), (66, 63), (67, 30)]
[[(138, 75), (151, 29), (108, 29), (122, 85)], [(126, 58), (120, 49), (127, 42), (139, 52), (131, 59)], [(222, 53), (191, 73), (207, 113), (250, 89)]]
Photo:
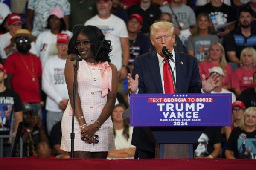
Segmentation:
[[(175, 51), (175, 63), (177, 93), (201, 93), (197, 59)], [(136, 74), (139, 75), (139, 93), (163, 93), (156, 51), (140, 55), (133, 64), (133, 78)], [(140, 150), (151, 152), (155, 150), (155, 144), (148, 138), (143, 127), (134, 127), (131, 144)]]

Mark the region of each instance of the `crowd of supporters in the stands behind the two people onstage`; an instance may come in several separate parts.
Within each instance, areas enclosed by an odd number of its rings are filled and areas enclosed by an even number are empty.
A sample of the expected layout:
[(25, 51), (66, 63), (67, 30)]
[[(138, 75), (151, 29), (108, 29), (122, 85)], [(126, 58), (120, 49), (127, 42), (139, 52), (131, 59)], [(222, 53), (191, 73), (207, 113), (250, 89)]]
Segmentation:
[[(157, 21), (174, 23), (174, 49), (197, 58), (200, 75), (220, 75), (212, 93), (232, 94), (232, 127), (207, 127), (195, 158), (256, 158), (256, 0), (1, 0), (0, 135), (15, 135), (23, 120), (23, 157), (69, 158), (60, 149), (68, 42), (79, 25), (93, 25), (111, 40), (119, 76), (108, 158), (133, 158), (132, 127), (120, 116), (126, 77), (154, 50)], [(11, 143), (4, 140), (5, 156)]]

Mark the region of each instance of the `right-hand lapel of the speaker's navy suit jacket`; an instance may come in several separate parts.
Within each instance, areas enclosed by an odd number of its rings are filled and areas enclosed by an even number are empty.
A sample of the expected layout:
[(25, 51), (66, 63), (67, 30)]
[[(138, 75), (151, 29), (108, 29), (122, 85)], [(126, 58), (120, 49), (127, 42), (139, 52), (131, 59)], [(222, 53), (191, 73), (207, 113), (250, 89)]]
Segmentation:
[(177, 93), (181, 93), (182, 89), (182, 72), (183, 72), (183, 64), (181, 64), (182, 61), (182, 55), (179, 55), (178, 52), (175, 52), (175, 72), (176, 72), (176, 89), (177, 89)]

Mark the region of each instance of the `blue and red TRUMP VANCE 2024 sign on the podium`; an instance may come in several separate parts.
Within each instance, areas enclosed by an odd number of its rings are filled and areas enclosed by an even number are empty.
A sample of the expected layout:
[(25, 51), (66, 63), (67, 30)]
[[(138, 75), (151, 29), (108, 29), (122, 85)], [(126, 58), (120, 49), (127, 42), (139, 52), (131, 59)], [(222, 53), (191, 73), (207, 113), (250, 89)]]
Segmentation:
[(231, 94), (132, 94), (131, 126), (231, 126)]

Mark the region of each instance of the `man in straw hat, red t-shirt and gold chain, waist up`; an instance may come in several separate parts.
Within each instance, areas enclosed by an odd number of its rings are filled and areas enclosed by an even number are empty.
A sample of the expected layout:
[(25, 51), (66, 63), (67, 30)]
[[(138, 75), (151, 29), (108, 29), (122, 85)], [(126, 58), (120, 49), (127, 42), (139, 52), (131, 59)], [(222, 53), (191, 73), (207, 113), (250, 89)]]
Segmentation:
[(41, 61), (29, 52), (30, 42), (34, 40), (35, 37), (29, 30), (17, 30), (11, 41), (16, 44), (18, 52), (9, 55), (5, 66), (8, 74), (7, 87), (17, 92), (22, 102), (32, 104), (41, 116)]

